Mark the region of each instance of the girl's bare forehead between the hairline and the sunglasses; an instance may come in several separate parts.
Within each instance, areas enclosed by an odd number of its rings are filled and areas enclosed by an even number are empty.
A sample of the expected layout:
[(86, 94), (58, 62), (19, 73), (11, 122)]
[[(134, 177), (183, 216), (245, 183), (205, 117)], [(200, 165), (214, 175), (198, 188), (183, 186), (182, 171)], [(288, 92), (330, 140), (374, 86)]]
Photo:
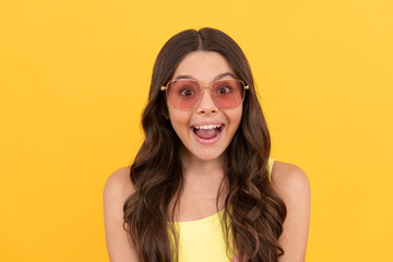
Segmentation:
[(224, 73), (234, 74), (227, 60), (215, 51), (193, 51), (188, 53), (176, 68), (172, 79), (190, 75), (202, 83), (210, 83)]

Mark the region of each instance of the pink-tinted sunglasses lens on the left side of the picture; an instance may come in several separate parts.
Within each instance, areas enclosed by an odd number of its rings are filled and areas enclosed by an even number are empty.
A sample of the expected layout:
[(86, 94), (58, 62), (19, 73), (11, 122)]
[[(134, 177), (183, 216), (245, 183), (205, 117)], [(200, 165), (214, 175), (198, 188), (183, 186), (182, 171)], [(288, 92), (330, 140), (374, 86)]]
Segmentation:
[(175, 80), (168, 85), (168, 99), (172, 107), (178, 109), (192, 108), (198, 102), (200, 87), (198, 82)]

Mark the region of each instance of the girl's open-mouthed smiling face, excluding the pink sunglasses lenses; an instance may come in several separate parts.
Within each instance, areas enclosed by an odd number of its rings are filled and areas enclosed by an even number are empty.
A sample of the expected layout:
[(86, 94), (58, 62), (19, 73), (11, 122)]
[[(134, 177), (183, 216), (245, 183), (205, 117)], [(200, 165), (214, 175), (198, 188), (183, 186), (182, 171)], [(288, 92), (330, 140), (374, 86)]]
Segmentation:
[(226, 59), (214, 51), (188, 53), (174, 72), (175, 79), (192, 79), (201, 85), (201, 97), (192, 109), (176, 109), (167, 100), (171, 126), (193, 159), (215, 160), (228, 147), (239, 127), (242, 104), (231, 109), (218, 108), (205, 87), (221, 79), (235, 79)]

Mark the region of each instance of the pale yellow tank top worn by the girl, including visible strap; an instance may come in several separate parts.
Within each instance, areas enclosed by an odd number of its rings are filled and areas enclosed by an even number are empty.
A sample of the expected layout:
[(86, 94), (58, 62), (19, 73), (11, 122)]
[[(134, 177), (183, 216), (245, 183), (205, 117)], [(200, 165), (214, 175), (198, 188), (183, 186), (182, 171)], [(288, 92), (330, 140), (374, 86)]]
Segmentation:
[[(273, 162), (269, 158), (269, 179)], [(179, 234), (179, 262), (238, 262), (236, 255), (227, 254), (221, 226), (223, 213), (224, 210), (202, 219), (174, 223)]]

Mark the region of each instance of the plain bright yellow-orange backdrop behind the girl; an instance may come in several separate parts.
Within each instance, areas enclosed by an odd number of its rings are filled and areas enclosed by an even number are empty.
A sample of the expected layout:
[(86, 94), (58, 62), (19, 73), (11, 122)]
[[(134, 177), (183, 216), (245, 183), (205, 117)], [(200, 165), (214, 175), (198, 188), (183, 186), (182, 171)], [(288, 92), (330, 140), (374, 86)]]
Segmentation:
[(1, 1), (0, 261), (108, 261), (102, 194), (141, 142), (164, 43), (211, 26), (246, 52), (272, 157), (311, 182), (307, 261), (393, 248), (393, 4)]

